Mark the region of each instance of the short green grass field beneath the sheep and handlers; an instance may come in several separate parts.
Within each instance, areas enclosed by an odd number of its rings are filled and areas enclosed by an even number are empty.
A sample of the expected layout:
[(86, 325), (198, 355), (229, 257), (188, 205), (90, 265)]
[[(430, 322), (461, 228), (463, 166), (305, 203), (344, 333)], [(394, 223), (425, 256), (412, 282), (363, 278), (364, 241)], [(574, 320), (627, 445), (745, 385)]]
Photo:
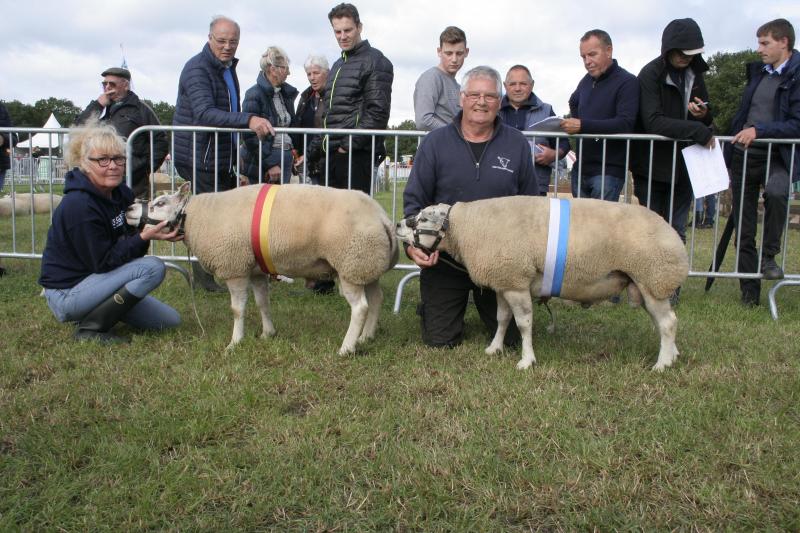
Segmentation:
[(3, 531), (800, 529), (800, 288), (774, 322), (732, 280), (688, 280), (663, 373), (642, 310), (555, 302), (549, 334), (537, 307), (520, 372), (484, 355), (473, 311), (462, 346), (425, 347), (416, 282), (391, 312), (398, 272), (377, 338), (341, 357), (346, 302), (302, 280), (273, 284), (277, 337), (257, 338), (251, 299), (225, 352), (228, 296), (196, 293), (203, 332), (170, 273), (155, 295), (182, 327), (103, 347), (55, 321), (38, 261), (2, 264)]

